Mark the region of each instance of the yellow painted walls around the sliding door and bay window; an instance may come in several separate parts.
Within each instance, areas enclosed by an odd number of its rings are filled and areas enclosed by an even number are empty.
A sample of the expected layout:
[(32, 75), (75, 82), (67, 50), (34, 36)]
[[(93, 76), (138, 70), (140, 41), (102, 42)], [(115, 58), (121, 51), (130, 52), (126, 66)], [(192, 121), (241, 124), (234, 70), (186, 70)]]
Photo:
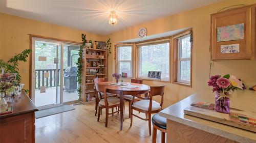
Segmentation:
[[(81, 41), (81, 33), (86, 33), (87, 38), (91, 40), (105, 41), (110, 37), (112, 42), (112, 54), (110, 54), (108, 61), (108, 77), (109, 79), (112, 79), (111, 74), (115, 71), (115, 42), (137, 38), (137, 32), (141, 27), (147, 28), (148, 35), (178, 30), (185, 27), (193, 27), (193, 88), (166, 83), (164, 96), (164, 107), (166, 107), (187, 97), (190, 94), (193, 94), (197, 90), (207, 88), (206, 81), (208, 80), (209, 76), (210, 63), (210, 53), (208, 51), (210, 28), (209, 15), (211, 13), (216, 13), (218, 10), (227, 6), (253, 3), (256, 3), (256, 1), (224, 1), (195, 10), (162, 17), (153, 21), (148, 21), (107, 36), (100, 36), (65, 26), (58, 26), (0, 13), (0, 59), (6, 61), (11, 56), (13, 56), (14, 53), (19, 53), (25, 48), (29, 48), (28, 34), (73, 41)], [(24, 73), (23, 69), (27, 69), (27, 71), (29, 71), (29, 61), (27, 63), (20, 64), (19, 69), (22, 75), (22, 82), (26, 84), (25, 88), (28, 89), (29, 72)], [(214, 66), (212, 67), (212, 74), (223, 75), (227, 73), (236, 75), (246, 84), (255, 84), (256, 61), (237, 60), (214, 62)], [(156, 81), (144, 81), (144, 83), (148, 85), (163, 84), (163, 82)]]

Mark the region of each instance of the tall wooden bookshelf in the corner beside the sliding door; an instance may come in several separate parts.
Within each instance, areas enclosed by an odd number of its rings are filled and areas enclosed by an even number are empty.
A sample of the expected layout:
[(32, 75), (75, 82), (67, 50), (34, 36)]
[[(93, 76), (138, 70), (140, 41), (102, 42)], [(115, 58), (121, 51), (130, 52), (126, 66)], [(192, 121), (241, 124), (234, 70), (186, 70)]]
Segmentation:
[[(95, 100), (94, 91), (94, 78), (106, 77), (106, 63), (107, 63), (107, 53), (104, 49), (93, 49), (84, 48), (83, 51), (83, 70), (82, 70), (82, 92), (81, 92), (81, 102), (88, 102), (87, 96), (90, 95), (91, 100)], [(99, 58), (104, 56), (103, 58)], [(94, 64), (93, 64), (94, 62)], [(96, 62), (96, 65), (95, 65)], [(100, 65), (100, 66), (99, 66)], [(87, 81), (90, 80), (90, 81)]]

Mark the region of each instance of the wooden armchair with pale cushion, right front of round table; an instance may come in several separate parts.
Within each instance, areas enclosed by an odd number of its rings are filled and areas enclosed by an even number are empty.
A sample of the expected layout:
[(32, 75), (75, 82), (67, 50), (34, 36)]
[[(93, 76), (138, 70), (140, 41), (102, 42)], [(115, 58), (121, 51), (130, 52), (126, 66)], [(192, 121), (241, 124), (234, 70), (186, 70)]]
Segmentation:
[[(148, 97), (141, 97), (141, 96), (137, 96), (137, 95), (135, 95), (133, 97), (133, 99), (135, 97), (137, 97), (142, 100), (132, 103), (131, 112), (130, 112), (130, 119), (131, 119), (130, 126), (131, 127), (133, 125), (133, 116), (135, 116), (141, 120), (148, 121), (148, 131), (151, 135), (151, 114), (158, 113), (159, 111), (162, 110), (164, 87), (165, 87), (165, 84), (159, 85), (159, 86), (151, 86), (150, 87), (150, 95)], [(158, 103), (153, 100), (153, 97), (158, 96), (158, 95), (161, 96), (161, 103)], [(145, 113), (146, 119), (141, 118), (137, 115), (134, 115), (133, 110), (137, 110), (137, 111)]]

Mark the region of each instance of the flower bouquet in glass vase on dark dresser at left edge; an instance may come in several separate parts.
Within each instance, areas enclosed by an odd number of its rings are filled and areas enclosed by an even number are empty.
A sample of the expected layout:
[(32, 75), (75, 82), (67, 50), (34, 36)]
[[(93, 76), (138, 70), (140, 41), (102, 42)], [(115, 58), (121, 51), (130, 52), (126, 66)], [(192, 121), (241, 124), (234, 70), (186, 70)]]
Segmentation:
[(5, 97), (10, 95), (15, 89), (16, 85), (16, 73), (4, 73), (0, 74), (0, 112), (5, 112), (8, 108)]

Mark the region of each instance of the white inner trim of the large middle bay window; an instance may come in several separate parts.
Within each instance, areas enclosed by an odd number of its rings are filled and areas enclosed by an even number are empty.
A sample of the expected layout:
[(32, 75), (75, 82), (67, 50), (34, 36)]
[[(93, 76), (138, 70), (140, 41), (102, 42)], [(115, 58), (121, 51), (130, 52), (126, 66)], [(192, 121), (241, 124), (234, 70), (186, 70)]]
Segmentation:
[[(161, 41), (168, 41), (168, 43), (169, 43), (169, 40), (170, 39), (162, 39)], [(159, 40), (160, 41), (160, 40)], [(159, 42), (159, 41), (157, 41), (157, 42)], [(151, 42), (147, 42), (146, 44), (150, 44), (150, 43), (152, 43), (152, 45), (154, 45), (154, 43), (155, 43), (156, 41), (151, 41)], [(164, 42), (163, 42), (164, 43)], [(166, 42), (167, 43), (167, 42)], [(159, 44), (161, 44), (161, 43), (159, 43)], [(170, 43), (169, 43), (170, 44)], [(136, 45), (136, 47), (138, 48), (138, 78), (140, 78), (140, 79), (149, 79), (149, 80), (157, 80), (157, 81), (167, 81), (167, 82), (169, 82), (170, 81), (170, 77), (171, 77), (171, 75), (170, 75), (170, 59), (171, 59), (171, 57), (170, 57), (170, 54), (169, 54), (169, 79), (168, 78), (161, 78), (161, 80), (159, 80), (159, 79), (155, 79), (155, 78), (148, 78), (148, 77), (144, 77), (144, 76), (140, 76), (140, 72), (141, 72), (141, 55), (140, 55), (140, 53), (141, 53), (141, 46), (143, 46), (143, 44), (137, 44)], [(170, 45), (169, 45), (169, 52), (170, 52)]]

